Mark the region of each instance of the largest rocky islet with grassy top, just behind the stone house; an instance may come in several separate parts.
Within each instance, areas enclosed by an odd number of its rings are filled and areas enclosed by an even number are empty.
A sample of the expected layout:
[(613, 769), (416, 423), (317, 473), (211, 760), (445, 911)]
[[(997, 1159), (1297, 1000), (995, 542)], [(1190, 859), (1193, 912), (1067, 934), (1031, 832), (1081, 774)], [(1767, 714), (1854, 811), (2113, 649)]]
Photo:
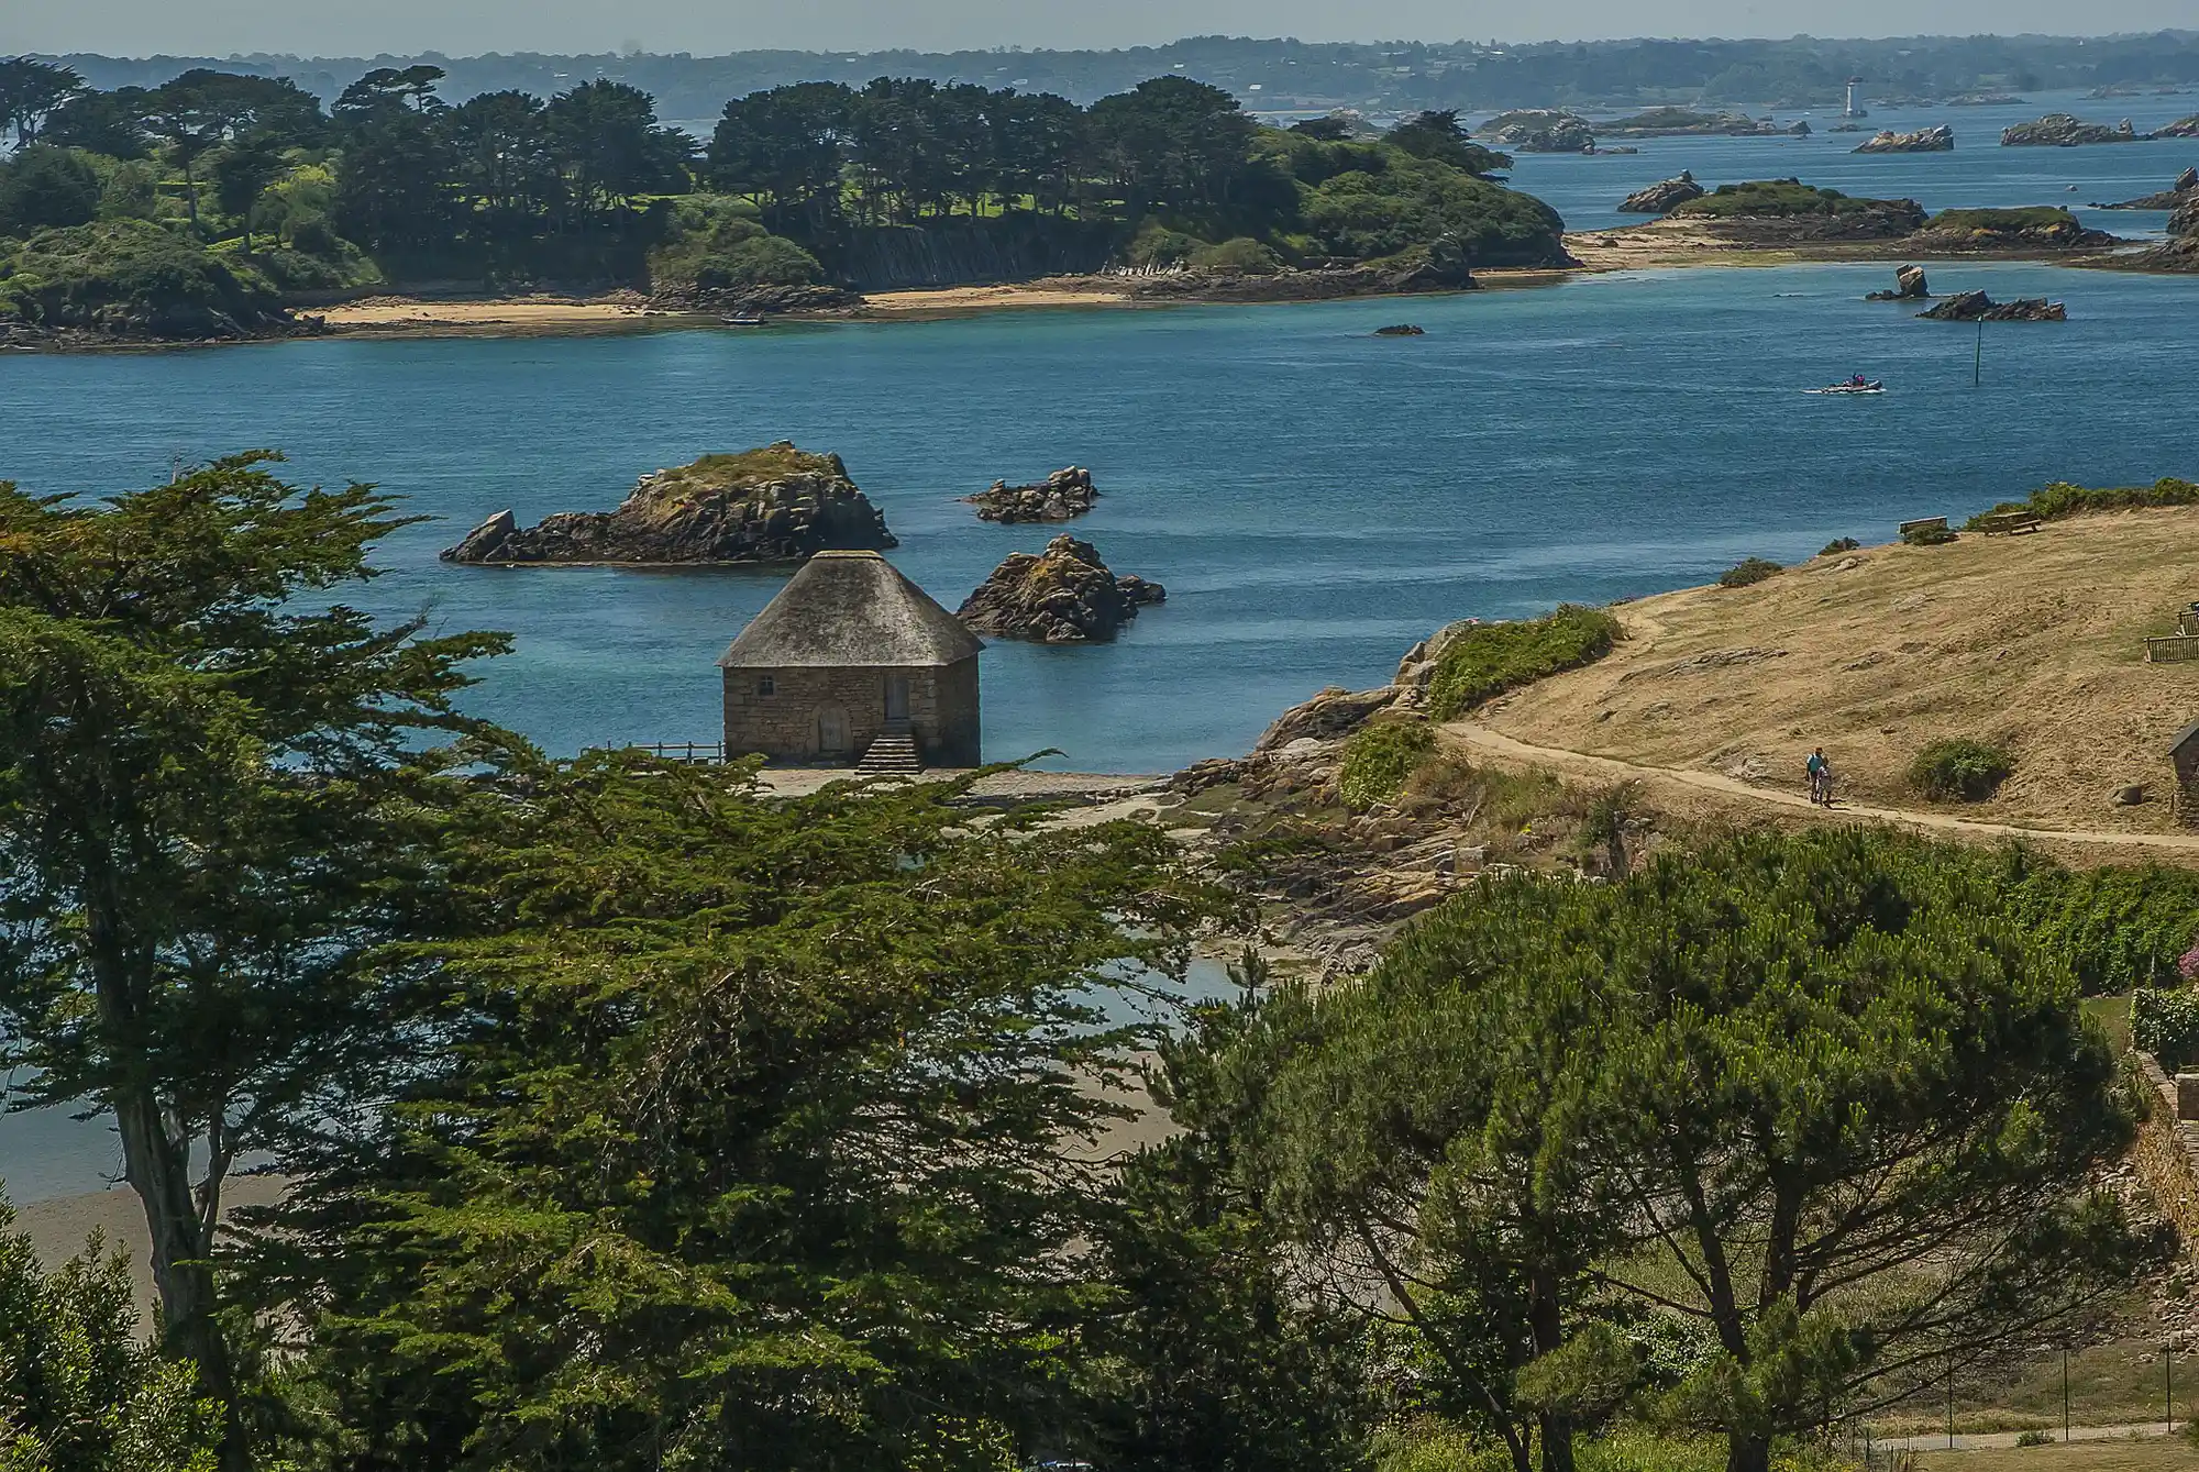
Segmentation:
[(895, 547), (838, 455), (781, 439), (745, 455), (704, 455), (633, 483), (614, 512), (559, 512), (521, 527), (497, 512), (446, 562), (526, 567), (554, 562), (717, 565), (798, 562), (818, 551)]

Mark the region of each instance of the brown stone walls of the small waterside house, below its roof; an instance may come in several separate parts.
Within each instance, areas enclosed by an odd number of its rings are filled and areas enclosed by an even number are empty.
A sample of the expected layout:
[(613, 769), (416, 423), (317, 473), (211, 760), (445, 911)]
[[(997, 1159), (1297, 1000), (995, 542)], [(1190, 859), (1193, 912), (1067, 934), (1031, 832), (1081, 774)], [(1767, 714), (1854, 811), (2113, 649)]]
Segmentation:
[[(939, 668), (726, 670), (726, 756), (818, 767), (862, 758), (886, 729), (886, 679), (908, 679), (908, 725), (928, 767), (979, 760), (976, 659)], [(772, 683), (763, 694), (761, 681)], [(844, 716), (847, 749), (822, 747), (822, 712)]]

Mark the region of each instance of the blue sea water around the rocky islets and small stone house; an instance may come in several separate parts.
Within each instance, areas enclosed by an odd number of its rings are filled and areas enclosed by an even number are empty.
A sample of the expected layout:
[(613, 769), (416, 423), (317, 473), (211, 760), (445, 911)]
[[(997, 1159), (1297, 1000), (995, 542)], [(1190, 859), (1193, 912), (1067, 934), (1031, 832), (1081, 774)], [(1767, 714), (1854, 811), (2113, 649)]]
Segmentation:
[[(1528, 156), (1515, 182), (1603, 228), (1625, 220), (1618, 198), (1680, 169), (1944, 209), (2122, 200), (2199, 163), (2199, 141), (1992, 147), (2054, 105), (2146, 130), (2199, 99), (1874, 112), (1893, 127), (1951, 121), (1957, 152), (1854, 156), (1854, 136), (1825, 132), (1662, 138), (1636, 156)], [(372, 481), (424, 521), (383, 543), (354, 602), (438, 631), (510, 631), (515, 653), (484, 661), (466, 703), (572, 754), (717, 740), (715, 659), (787, 573), (438, 560), (490, 512), (607, 510), (660, 466), (794, 439), (847, 459), (899, 536), (895, 565), (954, 606), (1058, 532), (981, 523), (961, 497), (1089, 466), (1100, 508), (1069, 529), (1117, 571), (1163, 582), (1168, 602), (1108, 646), (987, 648), (985, 751), (1170, 771), (1245, 751), (1324, 685), (1388, 681), (1451, 620), (1687, 587), (1838, 536), (1889, 540), (1898, 521), (1962, 518), (2056, 479), (2199, 475), (2199, 279), (1931, 264), (1940, 292), (2069, 308), (2067, 323), (1979, 332), (1863, 301), (1891, 277), (1891, 264), (1638, 270), (1313, 305), (7, 354), (0, 479), (103, 497), (279, 448), (299, 483)], [(1399, 321), (1425, 336), (1374, 336)], [(1808, 395), (1858, 371), (1889, 391)], [(18, 1202), (99, 1189), (112, 1169), (103, 1125), (0, 1118)]]

